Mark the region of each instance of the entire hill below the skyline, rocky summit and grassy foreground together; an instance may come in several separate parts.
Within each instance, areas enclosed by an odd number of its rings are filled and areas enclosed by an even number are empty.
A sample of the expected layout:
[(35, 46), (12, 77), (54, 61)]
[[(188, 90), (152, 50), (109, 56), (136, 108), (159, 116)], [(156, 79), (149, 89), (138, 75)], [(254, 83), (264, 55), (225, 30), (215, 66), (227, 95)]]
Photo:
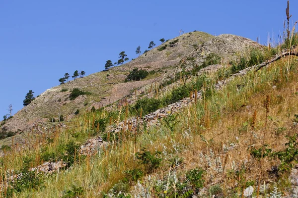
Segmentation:
[(0, 196), (298, 197), (297, 44), (195, 31), (47, 90), (0, 124)]

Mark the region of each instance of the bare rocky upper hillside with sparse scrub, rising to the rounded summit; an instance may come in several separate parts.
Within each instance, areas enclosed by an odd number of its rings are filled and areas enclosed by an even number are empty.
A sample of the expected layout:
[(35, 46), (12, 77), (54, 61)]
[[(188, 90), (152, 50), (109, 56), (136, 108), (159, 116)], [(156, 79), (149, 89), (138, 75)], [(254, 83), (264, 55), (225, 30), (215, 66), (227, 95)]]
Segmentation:
[[(222, 63), (226, 63), (251, 47), (256, 47), (256, 43), (235, 35), (215, 37), (198, 31), (186, 33), (126, 64), (46, 90), (13, 118), (6, 120), (5, 124), (2, 122), (1, 130), (18, 134), (29, 131), (43, 132), (52, 126), (49, 120), (57, 120), (59, 113), (67, 121), (76, 116), (74, 112), (77, 109), (84, 112), (92, 106), (100, 108), (126, 97), (130, 97), (133, 102), (139, 94), (144, 94), (146, 87), (174, 77), (182, 70), (182, 64), (186, 65), (186, 70), (190, 70), (194, 65), (202, 64), (210, 53), (218, 54)], [(151, 72), (141, 81), (124, 82), (133, 68)], [(88, 94), (71, 100), (69, 96), (74, 88)], [(132, 96), (132, 93), (135, 95)]]

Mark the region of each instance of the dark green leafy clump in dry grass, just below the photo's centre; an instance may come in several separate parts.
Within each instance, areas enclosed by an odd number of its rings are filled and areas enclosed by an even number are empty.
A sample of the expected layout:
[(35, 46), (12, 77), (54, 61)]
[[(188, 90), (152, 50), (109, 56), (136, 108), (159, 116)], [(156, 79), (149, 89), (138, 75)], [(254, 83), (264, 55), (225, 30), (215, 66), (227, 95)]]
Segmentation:
[(161, 165), (162, 158), (159, 157), (160, 151), (155, 151), (154, 153), (149, 152), (146, 148), (142, 148), (141, 152), (136, 153), (136, 158), (144, 164), (148, 173), (158, 168)]

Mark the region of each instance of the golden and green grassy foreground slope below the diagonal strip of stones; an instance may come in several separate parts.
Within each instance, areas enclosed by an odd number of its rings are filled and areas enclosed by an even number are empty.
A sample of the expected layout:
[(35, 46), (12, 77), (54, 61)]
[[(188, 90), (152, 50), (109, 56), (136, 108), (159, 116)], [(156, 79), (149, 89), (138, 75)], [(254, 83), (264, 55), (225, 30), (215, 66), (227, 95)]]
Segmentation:
[[(260, 148), (265, 141), (273, 151), (279, 151), (285, 148), (286, 135), (291, 136), (297, 132), (293, 119), (298, 112), (298, 65), (297, 61), (292, 61), (288, 72), (288, 63), (289, 60), (285, 58), (258, 73), (250, 72), (243, 78), (236, 78), (212, 97), (186, 108), (178, 115), (176, 120), (179, 122), (173, 121), (173, 131), (169, 130), (169, 123), (163, 123), (138, 134), (136, 144), (134, 138), (122, 144), (112, 144), (101, 154), (87, 157), (71, 170), (47, 179), (44, 188), (24, 192), (19, 197), (58, 197), (72, 189), (73, 185), (83, 188), (84, 197), (97, 197), (99, 192), (107, 192), (119, 183), (124, 177), (123, 171), (140, 168), (145, 172), (145, 167), (134, 157), (134, 153), (143, 147), (150, 151), (163, 151), (162, 166), (150, 174), (150, 181), (148, 175), (142, 179), (143, 187), (149, 189), (148, 193), (158, 193), (153, 186), (158, 183), (157, 180), (171, 178), (168, 177), (169, 171), (172, 176), (175, 172), (179, 180), (183, 181), (185, 171), (195, 167), (202, 167), (206, 171), (204, 185), (207, 188), (219, 182), (222, 193), (229, 197), (237, 191), (241, 193), (247, 181), (254, 181), (252, 185), (257, 184), (259, 175), (261, 181), (274, 181), (276, 178), (269, 179), (267, 170), (279, 165), (280, 161), (264, 157), (260, 163), (250, 156), (248, 148), (252, 143), (255, 148)], [(237, 91), (237, 85), (243, 87)], [(269, 119), (266, 118), (264, 107), (267, 95), (270, 96)], [(257, 116), (252, 129), (255, 110)], [(266, 119), (267, 133), (264, 138)], [(65, 136), (70, 136), (67, 134)], [(173, 156), (183, 161), (171, 170), (169, 163)], [(241, 174), (238, 174), (239, 171)], [(173, 187), (171, 182), (166, 184), (164, 188)], [(288, 186), (282, 184), (279, 184), (279, 188), (286, 192)], [(139, 185), (131, 193), (137, 194), (140, 191)], [(168, 190), (166, 193), (171, 192)]]

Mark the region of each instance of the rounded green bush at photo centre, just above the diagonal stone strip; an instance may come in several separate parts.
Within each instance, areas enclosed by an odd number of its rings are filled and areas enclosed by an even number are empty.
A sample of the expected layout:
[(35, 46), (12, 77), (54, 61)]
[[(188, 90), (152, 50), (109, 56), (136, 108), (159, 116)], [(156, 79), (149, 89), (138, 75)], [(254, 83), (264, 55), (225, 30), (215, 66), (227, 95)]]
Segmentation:
[(159, 99), (145, 97), (143, 99), (138, 99), (135, 103), (136, 110), (140, 111), (143, 109), (143, 115), (156, 111), (161, 107), (161, 101)]

